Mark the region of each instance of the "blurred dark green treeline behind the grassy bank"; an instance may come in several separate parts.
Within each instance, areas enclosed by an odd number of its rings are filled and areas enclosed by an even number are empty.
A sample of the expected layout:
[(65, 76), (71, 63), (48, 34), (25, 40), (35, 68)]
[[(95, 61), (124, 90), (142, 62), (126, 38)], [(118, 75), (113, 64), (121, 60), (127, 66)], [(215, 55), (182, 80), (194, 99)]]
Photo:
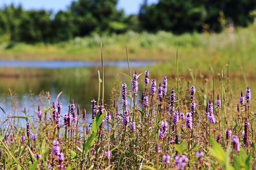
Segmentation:
[(173, 33), (219, 32), (222, 18), (235, 26), (253, 22), (255, 0), (145, 0), (138, 15), (125, 16), (117, 0), (73, 1), (67, 11), (25, 11), (21, 6), (0, 10), (0, 36), (10, 41), (54, 43), (92, 33), (111, 34), (160, 30)]

